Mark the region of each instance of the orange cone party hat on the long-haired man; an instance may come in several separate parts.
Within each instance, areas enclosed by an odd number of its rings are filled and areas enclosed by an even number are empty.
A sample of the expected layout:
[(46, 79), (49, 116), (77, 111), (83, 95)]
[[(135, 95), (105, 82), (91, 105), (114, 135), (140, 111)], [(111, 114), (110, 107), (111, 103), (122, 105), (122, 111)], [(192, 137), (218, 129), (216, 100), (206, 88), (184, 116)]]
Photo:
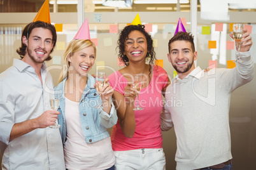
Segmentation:
[(43, 3), (40, 10), (38, 11), (38, 14), (34, 18), (33, 22), (36, 22), (36, 21), (51, 23), (49, 1), (48, 0), (45, 0), (45, 3)]

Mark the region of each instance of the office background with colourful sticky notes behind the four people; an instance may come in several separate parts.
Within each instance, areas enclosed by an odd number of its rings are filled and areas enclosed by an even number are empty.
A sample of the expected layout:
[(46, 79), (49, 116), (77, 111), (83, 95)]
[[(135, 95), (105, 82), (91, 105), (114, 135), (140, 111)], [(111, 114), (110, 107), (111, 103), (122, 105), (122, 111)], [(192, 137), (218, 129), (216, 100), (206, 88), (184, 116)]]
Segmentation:
[[(229, 49), (230, 46), (227, 46), (227, 41), (232, 41), (229, 37), (230, 25), (236, 22), (248, 25), (248, 28), (252, 29), (253, 42), (256, 39), (256, 4), (245, 0), (241, 7), (239, 4), (235, 6), (237, 1), (233, 1), (234, 3), (232, 1), (227, 3), (227, 12), (222, 11), (221, 16), (218, 16), (220, 8), (212, 10), (211, 15), (208, 16), (203, 7), (205, 3), (203, 0), (196, 2), (180, 0), (173, 1), (173, 4), (135, 4), (136, 0), (134, 0), (131, 7), (125, 8), (104, 6), (100, 4), (101, 2), (92, 0), (74, 1), (78, 5), (57, 4), (57, 0), (50, 1), (51, 22), (59, 24), (58, 27), (60, 26), (60, 29), (62, 27), (62, 31), (57, 32), (57, 45), (52, 54), (53, 59), (46, 62), (46, 65), (56, 86), (62, 66), (65, 64), (64, 49), (73, 39), (85, 18), (88, 18), (90, 37), (97, 43), (96, 63), (90, 73), (95, 74), (96, 66), (104, 66), (107, 75), (122, 69), (124, 66), (118, 65), (117, 58), (118, 34), (139, 13), (141, 22), (147, 26), (153, 38), (157, 59), (163, 63), (170, 79), (173, 78), (174, 69), (167, 60), (167, 43), (173, 37), (179, 18), (183, 20), (187, 32), (194, 32), (198, 53), (197, 65), (205, 69), (209, 66), (209, 61), (217, 61), (218, 68), (227, 68), (227, 61), (234, 60), (235, 53), (234, 49)], [(217, 0), (214, 2), (216, 3)], [(22, 29), (27, 23), (32, 22), (43, 3), (43, 0), (0, 0), (0, 73), (12, 65), (13, 58), (20, 58), (16, 49), (21, 43)], [(196, 6), (192, 7), (192, 3), (196, 3)], [(245, 5), (248, 3), (250, 6)], [(82, 4), (83, 8), (79, 4)], [(225, 4), (219, 6), (225, 6)], [(195, 18), (196, 23), (193, 22)], [(222, 31), (218, 30), (220, 26)], [(209, 30), (210, 32), (207, 32)], [(210, 49), (209, 41), (216, 41), (216, 48)], [(253, 44), (251, 53), (256, 63), (255, 47), (256, 45)], [(256, 79), (254, 78), (245, 86), (236, 89), (231, 96), (229, 117), (235, 169), (256, 169), (254, 163), (256, 159), (255, 85)], [(162, 134), (167, 162), (166, 169), (175, 169), (176, 138), (174, 129)], [(4, 150), (3, 143), (0, 144), (0, 150), (1, 157)]]

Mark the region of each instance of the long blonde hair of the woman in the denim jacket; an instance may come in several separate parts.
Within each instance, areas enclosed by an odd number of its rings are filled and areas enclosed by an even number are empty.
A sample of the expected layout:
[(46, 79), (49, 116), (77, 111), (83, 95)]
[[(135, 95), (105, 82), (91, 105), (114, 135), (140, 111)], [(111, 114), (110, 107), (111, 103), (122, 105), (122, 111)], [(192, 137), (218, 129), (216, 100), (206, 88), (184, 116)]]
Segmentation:
[(68, 47), (66, 48), (66, 51), (64, 53), (64, 60), (66, 62), (66, 65), (63, 66), (62, 72), (60, 73), (59, 82), (62, 82), (66, 77), (68, 77), (69, 73), (69, 57), (73, 55), (73, 53), (80, 51), (84, 48), (87, 48), (89, 46), (93, 46), (95, 55), (96, 55), (96, 46), (94, 42), (90, 41), (89, 39), (73, 39), (69, 42)]

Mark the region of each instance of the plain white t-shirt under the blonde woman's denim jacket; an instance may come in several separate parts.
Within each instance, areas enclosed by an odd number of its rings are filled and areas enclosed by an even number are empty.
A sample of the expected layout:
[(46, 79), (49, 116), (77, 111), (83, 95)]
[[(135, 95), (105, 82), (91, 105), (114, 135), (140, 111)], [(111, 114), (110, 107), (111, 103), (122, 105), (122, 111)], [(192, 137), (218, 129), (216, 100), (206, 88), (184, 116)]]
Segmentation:
[(79, 114), (79, 102), (65, 98), (67, 140), (64, 145), (66, 168), (108, 169), (115, 164), (110, 137), (86, 143)]

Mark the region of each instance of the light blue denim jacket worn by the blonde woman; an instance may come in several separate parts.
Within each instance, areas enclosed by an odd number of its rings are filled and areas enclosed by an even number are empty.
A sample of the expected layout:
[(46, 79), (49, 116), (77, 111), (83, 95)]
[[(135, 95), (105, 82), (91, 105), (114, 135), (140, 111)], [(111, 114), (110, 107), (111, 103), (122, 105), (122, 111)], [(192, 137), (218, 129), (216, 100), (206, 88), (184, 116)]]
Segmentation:
[[(98, 105), (99, 94), (94, 88), (94, 77), (90, 74), (87, 74), (87, 77), (87, 85), (85, 86), (79, 104), (80, 121), (86, 143), (94, 143), (110, 136), (107, 128), (111, 128), (117, 123), (117, 110), (115, 110), (113, 103), (110, 114), (94, 108)], [(54, 88), (55, 92), (59, 91), (60, 96), (60, 105), (58, 108), (60, 115), (58, 115), (58, 122), (60, 124), (59, 130), (63, 144), (66, 141), (65, 95), (63, 93), (66, 80), (64, 79)], [(55, 96), (57, 96), (56, 93)]]

